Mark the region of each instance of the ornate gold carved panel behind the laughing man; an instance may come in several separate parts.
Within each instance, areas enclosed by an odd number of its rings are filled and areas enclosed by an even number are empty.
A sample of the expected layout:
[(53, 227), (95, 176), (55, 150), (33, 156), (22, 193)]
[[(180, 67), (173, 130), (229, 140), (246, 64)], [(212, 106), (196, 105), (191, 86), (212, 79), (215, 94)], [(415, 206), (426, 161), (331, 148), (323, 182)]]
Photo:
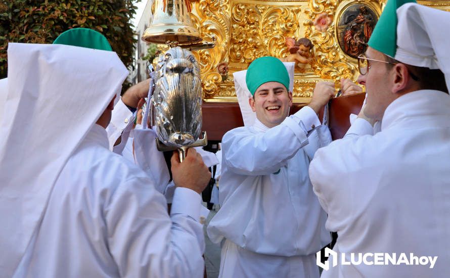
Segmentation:
[[(294, 102), (307, 103), (319, 80), (355, 80), (357, 61), (342, 52), (336, 36), (340, 14), (355, 3), (364, 3), (380, 15), (386, 0), (191, 0), (194, 25), (205, 39), (208, 34), (216, 38), (215, 48), (196, 52), (205, 101), (237, 101), (233, 72), (246, 69), (258, 57), (288, 56), (285, 37), (307, 37), (314, 44), (313, 65), (305, 72), (295, 73)], [(419, 3), (450, 9), (450, 1)], [(313, 26), (321, 13), (333, 18), (325, 31)], [(227, 80), (222, 80), (217, 72), (217, 66), (223, 62), (230, 67)]]

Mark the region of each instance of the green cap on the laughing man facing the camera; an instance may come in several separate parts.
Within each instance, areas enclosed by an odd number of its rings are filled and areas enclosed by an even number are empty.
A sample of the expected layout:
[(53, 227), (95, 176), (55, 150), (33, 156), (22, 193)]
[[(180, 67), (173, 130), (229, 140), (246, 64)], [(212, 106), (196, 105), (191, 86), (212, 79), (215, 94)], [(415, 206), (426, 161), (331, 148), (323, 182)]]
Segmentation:
[(252, 96), (259, 86), (272, 81), (283, 84), (289, 91), (289, 73), (280, 59), (266, 56), (258, 58), (250, 64), (245, 82)]

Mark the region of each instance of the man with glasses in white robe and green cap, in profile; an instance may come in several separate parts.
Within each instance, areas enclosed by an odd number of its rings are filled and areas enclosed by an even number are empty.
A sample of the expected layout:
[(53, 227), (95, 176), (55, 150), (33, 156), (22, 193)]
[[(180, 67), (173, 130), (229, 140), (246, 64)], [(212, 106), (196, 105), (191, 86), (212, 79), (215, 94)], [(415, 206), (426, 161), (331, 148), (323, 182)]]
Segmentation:
[(326, 227), (338, 233), (338, 264), (322, 277), (450, 273), (448, 26), (448, 12), (389, 0), (358, 58), (366, 104), (309, 167)]

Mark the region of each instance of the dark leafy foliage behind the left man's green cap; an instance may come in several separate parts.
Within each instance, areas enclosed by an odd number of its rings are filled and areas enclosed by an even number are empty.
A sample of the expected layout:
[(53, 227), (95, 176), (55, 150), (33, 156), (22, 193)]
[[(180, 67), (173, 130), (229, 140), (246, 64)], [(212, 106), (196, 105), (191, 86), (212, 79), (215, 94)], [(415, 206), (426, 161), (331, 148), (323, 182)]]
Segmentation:
[(0, 0), (0, 78), (8, 73), (8, 42), (52, 43), (76, 27), (104, 34), (125, 66), (134, 51), (131, 18), (141, 0)]

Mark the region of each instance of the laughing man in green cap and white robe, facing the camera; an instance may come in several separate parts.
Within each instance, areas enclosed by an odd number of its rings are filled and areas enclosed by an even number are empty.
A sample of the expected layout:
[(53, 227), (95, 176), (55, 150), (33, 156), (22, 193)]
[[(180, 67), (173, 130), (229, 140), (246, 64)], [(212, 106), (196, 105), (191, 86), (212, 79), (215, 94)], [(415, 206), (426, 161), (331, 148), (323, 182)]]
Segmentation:
[(316, 252), (330, 235), (308, 165), (331, 141), (317, 113), (334, 83), (318, 83), (310, 104), (290, 117), (292, 92), (280, 60), (253, 61), (246, 83), (256, 120), (223, 136), (221, 207), (208, 226), (210, 239), (222, 242), (219, 276), (318, 277)]

